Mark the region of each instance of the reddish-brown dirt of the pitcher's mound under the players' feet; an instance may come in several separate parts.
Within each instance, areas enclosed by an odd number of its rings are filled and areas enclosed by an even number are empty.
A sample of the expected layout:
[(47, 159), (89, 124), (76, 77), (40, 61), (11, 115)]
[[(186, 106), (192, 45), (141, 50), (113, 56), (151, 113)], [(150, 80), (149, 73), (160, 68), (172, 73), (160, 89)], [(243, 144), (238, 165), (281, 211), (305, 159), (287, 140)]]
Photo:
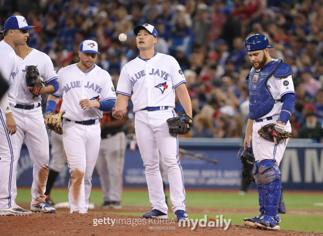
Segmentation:
[[(105, 219), (104, 219), (105, 218)], [(109, 218), (109, 220), (108, 220)], [(112, 226), (112, 220), (115, 224)], [(97, 226), (94, 226), (96, 225)], [(101, 224), (99, 224), (101, 223)], [(104, 224), (105, 223), (105, 224)], [(192, 225), (191, 225), (192, 226)], [(151, 220), (115, 214), (37, 213), (0, 217), (1, 235), (323, 235), (291, 230), (261, 230), (241, 225), (223, 227), (179, 227), (174, 219)]]

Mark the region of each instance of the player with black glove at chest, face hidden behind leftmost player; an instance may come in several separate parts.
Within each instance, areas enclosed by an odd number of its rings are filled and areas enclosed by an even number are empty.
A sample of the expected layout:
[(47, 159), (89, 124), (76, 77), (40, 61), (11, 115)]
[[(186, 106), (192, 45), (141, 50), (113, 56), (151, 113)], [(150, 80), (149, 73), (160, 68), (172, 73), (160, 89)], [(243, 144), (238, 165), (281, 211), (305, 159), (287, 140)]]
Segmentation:
[[(16, 54), (19, 65), (19, 85), (17, 104), (12, 111), (17, 122), (18, 155), (20, 156), (21, 146), (25, 140), (30, 158), (34, 163), (31, 211), (53, 213), (56, 210), (45, 202), (44, 194), (48, 176), (49, 144), (40, 95), (57, 91), (59, 89), (58, 77), (50, 58), (36, 49), (29, 48), (28, 44), (18, 46)], [(36, 66), (39, 79), (47, 84), (40, 88), (37, 96), (31, 92), (33, 87), (28, 87), (26, 84), (28, 66)]]

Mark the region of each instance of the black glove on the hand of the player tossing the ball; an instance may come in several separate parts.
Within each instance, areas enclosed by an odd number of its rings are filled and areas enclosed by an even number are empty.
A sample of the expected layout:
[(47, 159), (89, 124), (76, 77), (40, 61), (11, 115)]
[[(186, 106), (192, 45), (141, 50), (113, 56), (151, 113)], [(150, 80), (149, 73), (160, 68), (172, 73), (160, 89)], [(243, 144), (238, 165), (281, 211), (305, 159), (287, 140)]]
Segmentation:
[[(181, 116), (168, 119), (167, 123), (170, 128), (170, 133), (184, 134), (190, 131), (193, 120), (188, 115), (183, 114)], [(186, 124), (188, 124), (189, 127), (187, 127)]]

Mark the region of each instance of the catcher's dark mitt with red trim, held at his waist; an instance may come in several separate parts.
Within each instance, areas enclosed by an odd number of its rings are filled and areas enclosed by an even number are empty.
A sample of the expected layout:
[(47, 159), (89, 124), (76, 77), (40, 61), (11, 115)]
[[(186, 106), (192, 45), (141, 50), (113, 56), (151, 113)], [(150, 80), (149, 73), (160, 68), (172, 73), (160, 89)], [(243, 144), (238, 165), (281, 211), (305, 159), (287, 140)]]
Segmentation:
[(277, 139), (277, 141), (280, 141), (292, 137), (292, 133), (279, 129), (275, 127), (275, 125), (276, 124), (271, 123), (261, 126), (261, 128), (258, 129), (258, 134), (260, 135), (260, 137), (267, 139), (268, 141), (271, 141), (273, 143), (275, 143), (275, 138)]

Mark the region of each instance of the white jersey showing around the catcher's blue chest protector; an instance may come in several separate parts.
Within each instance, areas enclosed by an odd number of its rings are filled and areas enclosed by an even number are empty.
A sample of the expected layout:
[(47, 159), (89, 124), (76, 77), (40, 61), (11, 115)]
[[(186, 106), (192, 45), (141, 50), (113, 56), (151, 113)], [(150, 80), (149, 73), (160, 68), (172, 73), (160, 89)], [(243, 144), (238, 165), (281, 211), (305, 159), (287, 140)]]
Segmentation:
[[(272, 75), (267, 80), (267, 88), (270, 90), (275, 100), (282, 99), (282, 97), (287, 93), (295, 93), (294, 83), (291, 75), (285, 79), (276, 78), (274, 75)], [(282, 107), (283, 103), (277, 102), (274, 104), (273, 110), (261, 118), (279, 116), (281, 114)]]

